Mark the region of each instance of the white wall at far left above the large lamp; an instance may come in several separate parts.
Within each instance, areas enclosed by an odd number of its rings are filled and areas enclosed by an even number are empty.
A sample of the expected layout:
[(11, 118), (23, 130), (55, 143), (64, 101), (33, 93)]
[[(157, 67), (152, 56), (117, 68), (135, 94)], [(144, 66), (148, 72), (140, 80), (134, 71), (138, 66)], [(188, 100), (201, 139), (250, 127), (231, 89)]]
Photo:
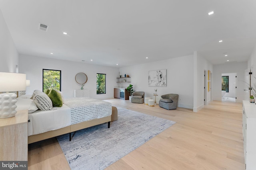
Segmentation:
[(16, 72), (18, 52), (0, 10), (0, 72)]

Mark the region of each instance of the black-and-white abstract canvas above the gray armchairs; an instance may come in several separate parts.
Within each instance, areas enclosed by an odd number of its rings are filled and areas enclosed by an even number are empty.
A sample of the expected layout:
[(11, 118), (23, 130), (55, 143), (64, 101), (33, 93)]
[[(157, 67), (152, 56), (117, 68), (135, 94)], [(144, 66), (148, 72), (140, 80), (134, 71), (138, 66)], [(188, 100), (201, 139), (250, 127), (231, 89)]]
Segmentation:
[(166, 87), (166, 69), (149, 71), (148, 86)]

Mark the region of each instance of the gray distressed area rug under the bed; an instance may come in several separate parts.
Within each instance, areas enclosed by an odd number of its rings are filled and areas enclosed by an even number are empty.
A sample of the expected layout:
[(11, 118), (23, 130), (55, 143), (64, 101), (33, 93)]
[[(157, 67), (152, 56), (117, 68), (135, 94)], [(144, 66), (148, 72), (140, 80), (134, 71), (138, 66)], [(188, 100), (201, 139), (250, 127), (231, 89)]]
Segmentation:
[[(58, 136), (72, 170), (103, 170), (140, 147), (174, 121), (118, 107), (118, 120)], [(72, 133), (73, 134), (73, 133)]]

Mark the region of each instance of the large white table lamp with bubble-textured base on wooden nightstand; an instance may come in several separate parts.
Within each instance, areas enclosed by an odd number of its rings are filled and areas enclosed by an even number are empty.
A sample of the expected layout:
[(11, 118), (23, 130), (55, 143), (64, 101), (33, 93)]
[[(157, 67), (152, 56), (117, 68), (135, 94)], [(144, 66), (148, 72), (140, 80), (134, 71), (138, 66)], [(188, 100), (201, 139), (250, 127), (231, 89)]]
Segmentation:
[[(0, 92), (26, 90), (26, 74), (0, 72)], [(0, 94), (0, 118), (13, 117), (17, 113), (15, 93)]]

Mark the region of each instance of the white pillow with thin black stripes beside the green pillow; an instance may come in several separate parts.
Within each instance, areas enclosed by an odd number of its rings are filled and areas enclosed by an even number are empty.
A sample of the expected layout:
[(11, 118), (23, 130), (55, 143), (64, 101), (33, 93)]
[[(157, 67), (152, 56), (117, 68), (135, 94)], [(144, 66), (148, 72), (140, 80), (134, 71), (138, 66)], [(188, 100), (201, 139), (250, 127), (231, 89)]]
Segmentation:
[(34, 96), (34, 102), (40, 110), (52, 110), (52, 100), (45, 93), (38, 93)]

